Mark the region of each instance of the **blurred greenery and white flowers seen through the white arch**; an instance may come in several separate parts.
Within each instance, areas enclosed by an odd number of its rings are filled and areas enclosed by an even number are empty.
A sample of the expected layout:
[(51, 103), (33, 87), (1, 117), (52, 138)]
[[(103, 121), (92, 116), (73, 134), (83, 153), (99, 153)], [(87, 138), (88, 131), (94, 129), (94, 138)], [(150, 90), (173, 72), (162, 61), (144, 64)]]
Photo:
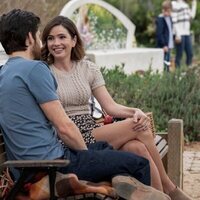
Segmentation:
[(101, 47), (100, 49), (125, 47), (127, 30), (123, 24), (110, 12), (98, 5), (89, 4), (88, 7), (90, 25), (94, 40), (96, 40), (94, 41), (97, 46), (96, 49), (99, 49), (98, 46)]

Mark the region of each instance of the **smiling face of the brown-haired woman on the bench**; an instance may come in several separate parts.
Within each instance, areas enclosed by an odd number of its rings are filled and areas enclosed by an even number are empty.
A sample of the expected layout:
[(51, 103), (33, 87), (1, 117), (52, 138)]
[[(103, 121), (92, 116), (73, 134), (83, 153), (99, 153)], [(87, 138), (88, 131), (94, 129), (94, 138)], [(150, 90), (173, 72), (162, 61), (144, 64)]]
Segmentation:
[(54, 60), (70, 58), (75, 45), (76, 37), (72, 38), (62, 25), (54, 26), (47, 37), (47, 47)]

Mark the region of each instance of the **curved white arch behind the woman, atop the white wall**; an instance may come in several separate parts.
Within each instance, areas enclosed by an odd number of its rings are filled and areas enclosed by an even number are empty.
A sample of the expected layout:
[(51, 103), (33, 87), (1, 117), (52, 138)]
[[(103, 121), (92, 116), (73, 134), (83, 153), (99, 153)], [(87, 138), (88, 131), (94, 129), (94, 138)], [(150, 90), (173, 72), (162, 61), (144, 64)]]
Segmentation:
[(135, 25), (121, 11), (102, 0), (71, 0), (65, 4), (60, 15), (70, 18), (76, 9), (88, 3), (102, 6), (121, 21), (127, 29), (126, 48), (132, 48), (132, 44), (135, 42)]

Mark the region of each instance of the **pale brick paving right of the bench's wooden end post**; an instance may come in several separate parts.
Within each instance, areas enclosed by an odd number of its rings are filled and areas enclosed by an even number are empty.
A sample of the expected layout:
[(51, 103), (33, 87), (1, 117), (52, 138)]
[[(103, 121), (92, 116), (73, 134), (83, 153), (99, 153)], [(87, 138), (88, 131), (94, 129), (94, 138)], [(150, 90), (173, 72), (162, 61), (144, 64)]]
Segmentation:
[(183, 170), (183, 190), (200, 200), (200, 151), (184, 151)]

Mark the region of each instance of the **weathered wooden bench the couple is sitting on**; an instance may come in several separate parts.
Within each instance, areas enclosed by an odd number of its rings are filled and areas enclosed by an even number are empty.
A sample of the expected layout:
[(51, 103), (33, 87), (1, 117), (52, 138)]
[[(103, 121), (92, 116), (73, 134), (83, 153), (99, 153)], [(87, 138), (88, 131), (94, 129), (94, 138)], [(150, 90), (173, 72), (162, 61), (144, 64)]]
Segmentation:
[[(152, 115), (150, 115), (152, 121), (152, 129), (155, 131)], [(183, 121), (180, 119), (171, 119), (168, 122), (168, 131), (166, 133), (155, 133), (155, 143), (159, 150), (160, 156), (163, 160), (166, 171), (171, 180), (182, 188), (183, 183)], [(7, 161), (6, 152), (4, 148), (4, 142), (2, 133), (0, 133), (0, 172), (5, 167), (18, 167), (22, 169), (22, 174), (18, 182), (12, 188), (7, 200), (14, 200), (16, 193), (23, 185), (24, 178), (27, 173), (36, 167), (42, 167), (47, 170), (49, 174), (50, 182), (50, 200), (57, 199), (54, 195), (54, 183), (56, 168), (60, 166), (66, 166), (69, 161), (66, 160), (32, 160), (32, 161)], [(82, 194), (71, 197), (62, 198), (62, 200), (72, 199), (111, 199), (101, 194)]]

